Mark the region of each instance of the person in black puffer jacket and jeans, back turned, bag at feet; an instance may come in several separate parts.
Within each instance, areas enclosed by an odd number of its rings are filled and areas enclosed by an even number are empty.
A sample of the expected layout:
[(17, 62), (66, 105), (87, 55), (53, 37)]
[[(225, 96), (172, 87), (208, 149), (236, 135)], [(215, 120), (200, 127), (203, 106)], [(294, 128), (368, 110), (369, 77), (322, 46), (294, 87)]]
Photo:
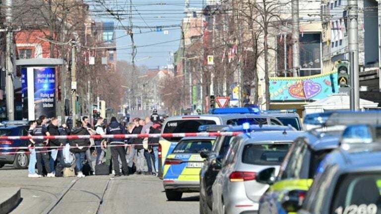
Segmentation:
[[(77, 121), (77, 127), (73, 127), (71, 135), (89, 135), (87, 127), (82, 125), (82, 121)], [(86, 157), (86, 150), (88, 149), (90, 142), (88, 139), (74, 139), (70, 142), (70, 152), (75, 155), (75, 170), (77, 171), (77, 177), (84, 177), (82, 173), (83, 160)]]

